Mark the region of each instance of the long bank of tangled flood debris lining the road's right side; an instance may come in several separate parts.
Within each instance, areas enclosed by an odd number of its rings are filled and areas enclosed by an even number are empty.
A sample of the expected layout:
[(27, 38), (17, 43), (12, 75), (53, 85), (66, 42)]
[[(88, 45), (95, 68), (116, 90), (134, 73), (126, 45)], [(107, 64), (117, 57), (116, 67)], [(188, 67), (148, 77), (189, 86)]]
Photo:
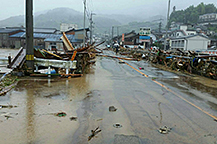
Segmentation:
[[(126, 60), (146, 60), (167, 71), (197, 74), (217, 80), (217, 54), (182, 50), (120, 48), (124, 57), (100, 55)], [(142, 67), (141, 67), (142, 68)]]

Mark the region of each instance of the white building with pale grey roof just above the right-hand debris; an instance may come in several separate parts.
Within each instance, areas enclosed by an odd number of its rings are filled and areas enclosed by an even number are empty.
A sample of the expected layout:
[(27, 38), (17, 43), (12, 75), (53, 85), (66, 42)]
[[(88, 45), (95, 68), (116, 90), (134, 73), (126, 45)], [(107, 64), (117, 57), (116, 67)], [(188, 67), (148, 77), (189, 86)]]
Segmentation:
[(170, 40), (171, 49), (180, 50), (207, 50), (210, 39), (205, 35), (189, 35)]

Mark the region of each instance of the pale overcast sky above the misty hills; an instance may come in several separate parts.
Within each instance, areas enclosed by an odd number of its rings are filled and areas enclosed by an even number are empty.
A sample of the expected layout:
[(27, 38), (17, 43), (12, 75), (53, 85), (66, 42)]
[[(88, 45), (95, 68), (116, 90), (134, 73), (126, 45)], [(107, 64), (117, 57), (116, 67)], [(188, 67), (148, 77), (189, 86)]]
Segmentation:
[[(68, 7), (77, 11), (83, 11), (84, 0), (33, 0), (34, 12), (45, 11), (57, 7)], [(97, 14), (151, 14), (165, 15), (167, 13), (168, 0), (86, 0), (89, 11)], [(186, 9), (190, 5), (213, 3), (217, 6), (217, 0), (171, 0), (171, 10)], [(1, 0), (0, 20), (11, 16), (25, 14), (25, 0)]]

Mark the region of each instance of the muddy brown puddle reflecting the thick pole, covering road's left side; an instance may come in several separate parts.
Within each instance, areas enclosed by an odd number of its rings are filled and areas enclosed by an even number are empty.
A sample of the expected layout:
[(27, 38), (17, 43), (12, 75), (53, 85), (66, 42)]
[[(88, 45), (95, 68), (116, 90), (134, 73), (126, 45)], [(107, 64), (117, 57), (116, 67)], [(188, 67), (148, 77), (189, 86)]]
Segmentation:
[[(64, 143), (66, 133), (78, 128), (76, 110), (91, 91), (91, 76), (73, 79), (20, 80), (15, 89), (0, 104), (16, 105), (0, 109), (0, 113), (18, 113), (10, 119), (0, 115), (0, 143)], [(65, 117), (51, 113), (65, 112)], [(10, 115), (9, 115), (10, 116)]]

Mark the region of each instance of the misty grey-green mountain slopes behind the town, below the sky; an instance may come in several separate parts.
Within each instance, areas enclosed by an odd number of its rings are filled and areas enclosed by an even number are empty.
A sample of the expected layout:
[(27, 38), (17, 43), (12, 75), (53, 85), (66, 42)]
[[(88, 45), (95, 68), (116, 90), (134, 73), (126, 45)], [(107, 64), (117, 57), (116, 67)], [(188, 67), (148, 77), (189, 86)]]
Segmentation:
[[(111, 33), (112, 26), (119, 26), (119, 33), (126, 33), (132, 30), (138, 30), (138, 26), (149, 26), (147, 22), (162, 18), (162, 16), (138, 18), (132, 15), (94, 15), (94, 33)], [(165, 19), (165, 18), (164, 18)], [(132, 23), (134, 22), (134, 23)], [(136, 23), (138, 22), (138, 23)], [(163, 21), (164, 22), (164, 21)], [(34, 26), (40, 28), (56, 28), (60, 29), (61, 23), (77, 24), (79, 28), (83, 27), (83, 13), (70, 8), (56, 8), (53, 10), (38, 12), (34, 15)], [(158, 23), (156, 21), (155, 23)], [(133, 24), (133, 25), (132, 25)], [(25, 26), (25, 16), (15, 16), (0, 21), (0, 27)], [(86, 18), (86, 27), (89, 26), (88, 18)], [(156, 27), (156, 25), (151, 24)], [(153, 28), (154, 28), (153, 27)], [(117, 29), (117, 28), (115, 28)]]

